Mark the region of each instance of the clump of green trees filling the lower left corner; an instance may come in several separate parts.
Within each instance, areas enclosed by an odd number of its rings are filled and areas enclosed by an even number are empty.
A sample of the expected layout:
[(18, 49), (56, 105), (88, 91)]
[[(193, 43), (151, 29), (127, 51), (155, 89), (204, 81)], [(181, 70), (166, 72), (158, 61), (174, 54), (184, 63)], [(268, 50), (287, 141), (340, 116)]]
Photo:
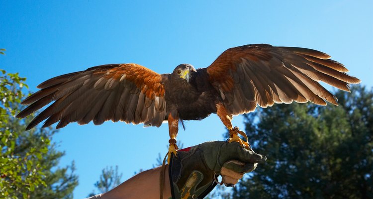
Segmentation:
[(4, 70), (0, 73), (0, 198), (72, 198), (78, 177), (74, 164), (56, 168), (64, 155), (51, 143), (57, 131), (24, 130), (32, 118), (19, 120), (14, 115), (22, 108), (25, 78)]

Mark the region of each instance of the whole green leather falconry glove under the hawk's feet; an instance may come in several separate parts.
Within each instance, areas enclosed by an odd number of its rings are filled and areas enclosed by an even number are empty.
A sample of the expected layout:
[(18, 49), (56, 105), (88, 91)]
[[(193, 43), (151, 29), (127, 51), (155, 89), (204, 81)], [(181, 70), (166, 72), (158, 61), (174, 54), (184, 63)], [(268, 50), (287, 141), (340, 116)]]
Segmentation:
[(219, 175), (221, 184), (233, 187), (266, 159), (237, 142), (212, 141), (179, 150), (169, 166), (172, 198), (203, 199), (217, 185)]

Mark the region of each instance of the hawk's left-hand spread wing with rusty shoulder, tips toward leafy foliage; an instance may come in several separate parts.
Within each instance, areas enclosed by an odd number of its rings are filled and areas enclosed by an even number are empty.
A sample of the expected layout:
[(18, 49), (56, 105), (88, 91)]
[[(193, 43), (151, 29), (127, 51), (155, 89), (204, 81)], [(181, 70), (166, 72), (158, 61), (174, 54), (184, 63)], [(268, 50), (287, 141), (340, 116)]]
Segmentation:
[(17, 117), (26, 117), (54, 101), (27, 126), (47, 119), (43, 127), (58, 122), (98, 125), (106, 120), (160, 126), (166, 116), (163, 76), (137, 64), (108, 64), (61, 75), (41, 83), (41, 89), (22, 101), (31, 104)]

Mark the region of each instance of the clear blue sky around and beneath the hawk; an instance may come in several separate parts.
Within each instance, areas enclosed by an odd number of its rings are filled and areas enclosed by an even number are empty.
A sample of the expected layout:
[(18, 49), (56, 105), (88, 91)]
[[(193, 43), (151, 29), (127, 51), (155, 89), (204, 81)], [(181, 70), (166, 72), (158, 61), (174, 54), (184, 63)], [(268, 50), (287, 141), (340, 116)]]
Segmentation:
[[(0, 48), (7, 50), (0, 68), (19, 72), (35, 92), (44, 80), (96, 65), (138, 63), (169, 73), (181, 63), (207, 67), (230, 47), (269, 43), (326, 52), (372, 87), (372, 10), (372, 0), (0, 0)], [(241, 116), (233, 122), (244, 127)], [(211, 115), (188, 121), (178, 139), (192, 146), (224, 132)], [(111, 121), (69, 124), (53, 138), (66, 152), (60, 166), (76, 163), (76, 199), (93, 190), (105, 166), (118, 165), (122, 180), (150, 169), (168, 139), (167, 125)]]

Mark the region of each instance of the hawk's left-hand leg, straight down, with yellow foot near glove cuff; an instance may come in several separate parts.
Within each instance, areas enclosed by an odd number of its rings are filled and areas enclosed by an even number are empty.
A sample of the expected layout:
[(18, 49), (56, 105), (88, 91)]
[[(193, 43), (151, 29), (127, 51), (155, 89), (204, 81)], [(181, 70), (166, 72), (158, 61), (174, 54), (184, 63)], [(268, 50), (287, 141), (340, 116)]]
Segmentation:
[(168, 116), (168, 123), (169, 123), (169, 133), (170, 133), (170, 147), (167, 162), (170, 164), (171, 154), (173, 153), (175, 156), (178, 156), (177, 150), (179, 149), (178, 145), (176, 145), (176, 136), (178, 135), (179, 131), (179, 116), (177, 114), (170, 113)]

